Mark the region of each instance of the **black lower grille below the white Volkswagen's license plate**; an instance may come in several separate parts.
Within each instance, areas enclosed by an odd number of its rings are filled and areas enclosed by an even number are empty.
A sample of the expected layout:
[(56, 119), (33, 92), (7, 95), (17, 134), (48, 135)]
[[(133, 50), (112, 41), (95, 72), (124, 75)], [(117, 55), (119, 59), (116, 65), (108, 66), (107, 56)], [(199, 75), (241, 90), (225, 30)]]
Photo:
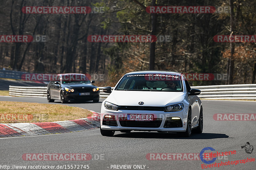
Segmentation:
[(126, 117), (119, 117), (120, 125), (133, 128), (159, 128), (162, 118), (156, 118), (154, 121), (128, 121)]

